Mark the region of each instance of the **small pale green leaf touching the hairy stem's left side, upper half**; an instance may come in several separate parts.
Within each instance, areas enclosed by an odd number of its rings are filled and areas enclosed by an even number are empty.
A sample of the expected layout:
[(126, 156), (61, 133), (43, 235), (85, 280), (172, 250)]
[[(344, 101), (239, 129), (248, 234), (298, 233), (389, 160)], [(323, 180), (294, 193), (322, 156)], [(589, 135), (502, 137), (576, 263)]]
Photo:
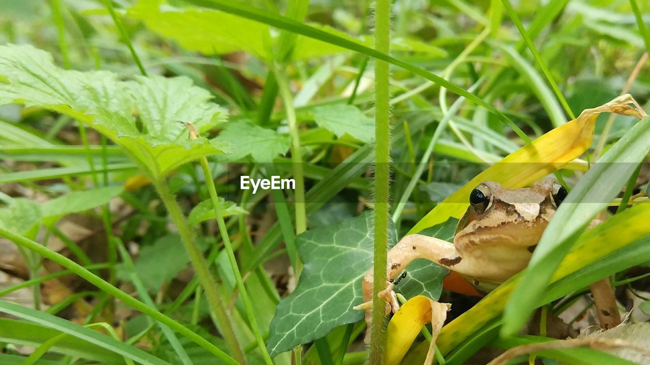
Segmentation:
[(349, 134), (362, 142), (374, 140), (374, 120), (369, 118), (354, 105), (334, 104), (311, 109), (314, 120), (341, 137)]

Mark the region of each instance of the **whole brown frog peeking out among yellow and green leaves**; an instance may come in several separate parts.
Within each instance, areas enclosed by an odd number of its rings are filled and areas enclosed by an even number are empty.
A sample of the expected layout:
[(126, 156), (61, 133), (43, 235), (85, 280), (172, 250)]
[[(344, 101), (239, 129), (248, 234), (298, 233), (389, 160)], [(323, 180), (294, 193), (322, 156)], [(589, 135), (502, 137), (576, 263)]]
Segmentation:
[[(566, 196), (566, 188), (551, 179), (516, 189), (504, 188), (495, 181), (478, 184), (469, 194), (469, 207), (458, 221), (453, 242), (409, 234), (390, 249), (388, 281), (385, 290), (379, 294), (387, 300), (387, 312), (396, 312), (400, 307), (393, 291), (393, 279), (416, 258), (426, 258), (456, 271), (482, 293), (510, 279), (526, 268), (539, 238)], [(594, 220), (588, 227), (600, 222)], [(369, 324), (372, 279), (370, 268), (363, 277), (364, 303), (355, 307), (366, 310), (365, 318)], [(601, 327), (620, 323), (608, 279), (592, 284), (590, 289)]]

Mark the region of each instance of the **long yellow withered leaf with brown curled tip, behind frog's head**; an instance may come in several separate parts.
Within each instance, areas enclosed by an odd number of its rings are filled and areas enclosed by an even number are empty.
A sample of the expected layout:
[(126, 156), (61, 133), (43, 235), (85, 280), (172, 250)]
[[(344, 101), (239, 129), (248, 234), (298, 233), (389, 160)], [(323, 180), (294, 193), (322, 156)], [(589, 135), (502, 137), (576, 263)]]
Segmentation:
[(496, 181), (504, 188), (521, 188), (565, 168), (571, 160), (589, 148), (593, 140), (595, 120), (603, 112), (642, 118), (641, 107), (629, 94), (621, 95), (600, 107), (586, 109), (575, 120), (552, 129), (476, 175), (426, 214), (408, 234), (443, 223), (450, 217), (460, 218), (469, 204), (469, 192), (482, 181)]

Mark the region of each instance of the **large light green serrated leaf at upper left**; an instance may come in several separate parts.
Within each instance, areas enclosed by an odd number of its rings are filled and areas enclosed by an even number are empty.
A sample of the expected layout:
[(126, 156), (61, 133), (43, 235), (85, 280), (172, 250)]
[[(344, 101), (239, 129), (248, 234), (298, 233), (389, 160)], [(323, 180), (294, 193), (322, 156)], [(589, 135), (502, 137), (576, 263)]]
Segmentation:
[(0, 46), (0, 75), (8, 82), (0, 84), (0, 105), (40, 106), (83, 121), (123, 147), (155, 180), (185, 162), (230, 147), (188, 138), (179, 121), (205, 132), (227, 113), (209, 103), (211, 94), (187, 77), (120, 81), (107, 71), (68, 71), (31, 45)]

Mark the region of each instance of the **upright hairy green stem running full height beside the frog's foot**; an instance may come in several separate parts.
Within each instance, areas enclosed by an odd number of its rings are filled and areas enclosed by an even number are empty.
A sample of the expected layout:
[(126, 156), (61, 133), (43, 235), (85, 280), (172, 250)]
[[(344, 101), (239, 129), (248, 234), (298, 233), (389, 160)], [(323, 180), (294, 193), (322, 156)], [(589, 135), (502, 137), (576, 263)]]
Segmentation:
[[(377, 0), (375, 9), (374, 47), (389, 53), (391, 1)], [(388, 253), (388, 194), (390, 159), (389, 66), (375, 60), (375, 166), (374, 166), (374, 286), (372, 287), (372, 326), (370, 328), (370, 364), (383, 364), (386, 335), (385, 300), (378, 294), (386, 288)]]

